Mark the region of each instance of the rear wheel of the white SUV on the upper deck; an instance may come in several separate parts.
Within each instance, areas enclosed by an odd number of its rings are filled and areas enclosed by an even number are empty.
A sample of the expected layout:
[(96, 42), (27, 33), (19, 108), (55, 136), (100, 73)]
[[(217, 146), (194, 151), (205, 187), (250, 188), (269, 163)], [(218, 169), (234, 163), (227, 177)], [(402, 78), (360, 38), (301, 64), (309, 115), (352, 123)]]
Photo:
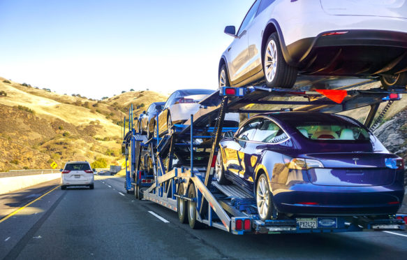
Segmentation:
[(269, 36), (263, 50), (263, 71), (267, 87), (291, 88), (297, 79), (297, 68), (286, 63), (281, 52), (279, 35)]

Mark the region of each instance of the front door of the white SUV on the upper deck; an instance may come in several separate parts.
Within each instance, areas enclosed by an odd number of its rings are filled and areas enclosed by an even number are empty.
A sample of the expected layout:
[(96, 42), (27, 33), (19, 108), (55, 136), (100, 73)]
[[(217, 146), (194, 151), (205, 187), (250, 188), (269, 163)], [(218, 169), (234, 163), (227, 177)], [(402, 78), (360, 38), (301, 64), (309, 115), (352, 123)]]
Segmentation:
[(248, 45), (248, 31), (247, 27), (253, 21), (253, 17), (256, 15), (260, 0), (257, 0), (244, 17), (242, 24), (237, 31), (237, 38), (232, 42), (228, 48), (228, 72), (229, 78), (233, 85), (242, 82), (246, 78), (249, 78), (249, 45)]

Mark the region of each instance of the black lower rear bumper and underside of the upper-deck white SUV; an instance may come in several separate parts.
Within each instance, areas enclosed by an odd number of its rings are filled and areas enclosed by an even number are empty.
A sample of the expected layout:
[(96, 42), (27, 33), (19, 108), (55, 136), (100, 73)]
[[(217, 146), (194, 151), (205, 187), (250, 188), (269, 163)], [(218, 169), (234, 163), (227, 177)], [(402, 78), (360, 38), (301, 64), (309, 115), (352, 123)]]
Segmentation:
[[(327, 35), (334, 32), (346, 33)], [(291, 64), (305, 74), (394, 74), (407, 68), (407, 33), (346, 29), (325, 31), (288, 45), (287, 51)]]

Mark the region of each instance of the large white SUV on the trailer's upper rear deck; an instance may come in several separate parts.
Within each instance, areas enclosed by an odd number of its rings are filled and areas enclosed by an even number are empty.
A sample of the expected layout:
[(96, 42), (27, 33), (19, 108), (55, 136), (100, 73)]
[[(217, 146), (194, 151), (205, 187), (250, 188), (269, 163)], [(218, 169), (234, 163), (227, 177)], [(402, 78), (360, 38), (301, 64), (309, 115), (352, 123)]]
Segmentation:
[(405, 0), (257, 0), (219, 63), (219, 85), (265, 78), (292, 87), (301, 75), (380, 77), (407, 85)]

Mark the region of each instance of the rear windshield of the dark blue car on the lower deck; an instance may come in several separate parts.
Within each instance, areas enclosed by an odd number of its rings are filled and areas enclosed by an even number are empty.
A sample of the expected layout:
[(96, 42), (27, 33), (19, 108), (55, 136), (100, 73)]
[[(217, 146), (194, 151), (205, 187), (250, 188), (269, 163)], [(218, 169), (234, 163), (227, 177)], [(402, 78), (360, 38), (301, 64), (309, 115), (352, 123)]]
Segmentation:
[(370, 140), (367, 129), (341, 115), (292, 114), (284, 121), (311, 140)]

